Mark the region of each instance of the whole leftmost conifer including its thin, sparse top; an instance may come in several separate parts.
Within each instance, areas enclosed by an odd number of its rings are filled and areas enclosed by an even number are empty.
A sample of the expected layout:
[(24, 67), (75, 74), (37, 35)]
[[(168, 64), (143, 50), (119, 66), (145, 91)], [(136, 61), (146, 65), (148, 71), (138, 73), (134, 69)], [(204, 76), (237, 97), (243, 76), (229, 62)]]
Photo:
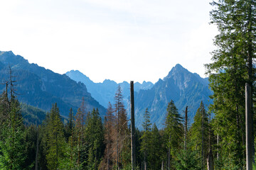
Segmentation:
[(25, 169), (25, 128), (20, 103), (14, 96), (16, 81), (13, 80), (11, 67), (9, 69), (6, 91), (0, 97), (0, 168)]

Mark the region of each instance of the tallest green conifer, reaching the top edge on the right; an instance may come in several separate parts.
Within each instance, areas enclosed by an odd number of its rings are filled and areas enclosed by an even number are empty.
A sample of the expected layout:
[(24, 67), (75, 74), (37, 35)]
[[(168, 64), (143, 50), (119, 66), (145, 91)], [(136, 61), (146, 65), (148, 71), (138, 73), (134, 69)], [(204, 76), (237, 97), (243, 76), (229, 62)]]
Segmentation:
[[(213, 90), (213, 129), (220, 137), (223, 166), (245, 166), (245, 83), (255, 89), (254, 0), (213, 1), (212, 23), (218, 26), (213, 63), (206, 64)], [(252, 93), (253, 94), (253, 93)], [(255, 94), (254, 94), (255, 96)], [(251, 103), (252, 104), (252, 103)]]

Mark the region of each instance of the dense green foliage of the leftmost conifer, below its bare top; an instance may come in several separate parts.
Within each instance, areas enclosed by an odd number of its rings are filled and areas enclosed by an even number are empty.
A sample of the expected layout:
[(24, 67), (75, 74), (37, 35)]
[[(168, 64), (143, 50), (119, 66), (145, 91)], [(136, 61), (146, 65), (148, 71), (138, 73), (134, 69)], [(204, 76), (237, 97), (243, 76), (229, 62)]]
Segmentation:
[[(9, 100), (6, 98), (6, 100)], [(0, 168), (1, 169), (24, 169), (26, 155), (24, 145), (23, 118), (18, 101), (11, 95), (10, 110), (6, 109), (6, 120), (1, 125), (0, 140)]]

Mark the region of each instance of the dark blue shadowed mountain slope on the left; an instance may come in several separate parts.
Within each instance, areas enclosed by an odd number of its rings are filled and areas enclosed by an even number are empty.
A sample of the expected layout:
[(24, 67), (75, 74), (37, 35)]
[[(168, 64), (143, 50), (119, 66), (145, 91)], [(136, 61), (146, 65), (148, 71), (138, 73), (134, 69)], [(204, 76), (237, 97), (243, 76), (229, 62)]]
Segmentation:
[[(106, 109), (87, 92), (85, 84), (77, 83), (65, 74), (30, 64), (20, 55), (13, 52), (0, 52), (1, 83), (9, 80), (9, 66), (16, 81), (18, 100), (31, 106), (49, 111), (53, 103), (57, 103), (60, 113), (67, 116), (70, 108), (76, 112), (82, 97), (85, 98), (87, 110), (99, 108), (100, 114), (105, 115)], [(1, 92), (5, 84), (0, 85)]]

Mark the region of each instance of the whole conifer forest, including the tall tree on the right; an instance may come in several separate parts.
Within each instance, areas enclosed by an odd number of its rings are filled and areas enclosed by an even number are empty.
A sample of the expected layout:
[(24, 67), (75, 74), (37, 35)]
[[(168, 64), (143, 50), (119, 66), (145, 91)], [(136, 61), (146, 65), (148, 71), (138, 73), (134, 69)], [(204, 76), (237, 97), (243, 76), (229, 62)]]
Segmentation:
[[(219, 30), (212, 62), (205, 64), (213, 103), (206, 107), (201, 102), (188, 120), (189, 107), (178, 111), (169, 101), (163, 129), (151, 123), (146, 108), (142, 130), (135, 130), (134, 169), (246, 169), (246, 105), (255, 113), (256, 1), (217, 0), (211, 5), (211, 24)], [(129, 110), (120, 86), (104, 118), (97, 108), (89, 111), (82, 99), (68, 118), (53, 103), (42, 123), (29, 123), (21, 114), (25, 106), (16, 98), (16, 84), (10, 70), (0, 96), (0, 169), (132, 169)], [(256, 146), (255, 115), (250, 120)]]

